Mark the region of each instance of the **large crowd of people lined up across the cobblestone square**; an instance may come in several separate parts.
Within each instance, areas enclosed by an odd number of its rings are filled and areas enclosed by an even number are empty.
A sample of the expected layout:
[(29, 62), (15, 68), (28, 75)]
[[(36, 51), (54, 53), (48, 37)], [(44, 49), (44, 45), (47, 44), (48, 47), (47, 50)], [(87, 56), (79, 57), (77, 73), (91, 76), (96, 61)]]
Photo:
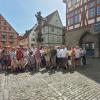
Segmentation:
[(38, 71), (40, 68), (76, 68), (86, 65), (86, 50), (79, 46), (4, 47), (0, 49), (0, 69)]

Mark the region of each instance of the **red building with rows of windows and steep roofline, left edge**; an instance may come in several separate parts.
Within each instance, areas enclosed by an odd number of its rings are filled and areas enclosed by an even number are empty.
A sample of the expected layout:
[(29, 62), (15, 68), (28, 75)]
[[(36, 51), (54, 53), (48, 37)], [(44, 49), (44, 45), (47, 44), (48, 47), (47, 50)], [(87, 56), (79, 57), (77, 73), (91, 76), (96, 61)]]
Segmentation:
[(18, 33), (6, 21), (6, 19), (2, 15), (0, 15), (0, 46), (16, 47), (17, 44)]

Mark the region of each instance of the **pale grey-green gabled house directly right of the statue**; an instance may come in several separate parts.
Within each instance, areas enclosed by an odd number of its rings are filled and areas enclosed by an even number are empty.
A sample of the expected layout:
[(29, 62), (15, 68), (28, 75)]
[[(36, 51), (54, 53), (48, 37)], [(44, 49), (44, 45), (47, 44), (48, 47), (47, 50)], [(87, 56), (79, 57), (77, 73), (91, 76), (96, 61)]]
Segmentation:
[(55, 11), (44, 18), (42, 25), (43, 45), (63, 44), (63, 25), (58, 11)]

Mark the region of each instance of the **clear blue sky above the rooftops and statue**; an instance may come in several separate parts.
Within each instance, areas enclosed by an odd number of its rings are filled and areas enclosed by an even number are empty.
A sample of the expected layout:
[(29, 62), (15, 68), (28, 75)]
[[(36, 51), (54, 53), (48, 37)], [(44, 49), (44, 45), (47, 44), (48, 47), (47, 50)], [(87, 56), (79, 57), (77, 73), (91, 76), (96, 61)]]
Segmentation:
[(19, 34), (34, 26), (37, 22), (35, 14), (38, 11), (46, 17), (55, 10), (58, 10), (65, 26), (66, 8), (63, 0), (0, 0), (0, 14)]

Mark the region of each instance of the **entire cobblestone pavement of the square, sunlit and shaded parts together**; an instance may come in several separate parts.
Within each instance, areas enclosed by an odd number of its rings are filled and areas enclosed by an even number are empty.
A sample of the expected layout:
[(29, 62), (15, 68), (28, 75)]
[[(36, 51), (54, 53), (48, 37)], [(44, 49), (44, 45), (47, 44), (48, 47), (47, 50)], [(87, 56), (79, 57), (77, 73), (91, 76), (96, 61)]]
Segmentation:
[(1, 73), (0, 100), (100, 100), (100, 59), (74, 72)]

